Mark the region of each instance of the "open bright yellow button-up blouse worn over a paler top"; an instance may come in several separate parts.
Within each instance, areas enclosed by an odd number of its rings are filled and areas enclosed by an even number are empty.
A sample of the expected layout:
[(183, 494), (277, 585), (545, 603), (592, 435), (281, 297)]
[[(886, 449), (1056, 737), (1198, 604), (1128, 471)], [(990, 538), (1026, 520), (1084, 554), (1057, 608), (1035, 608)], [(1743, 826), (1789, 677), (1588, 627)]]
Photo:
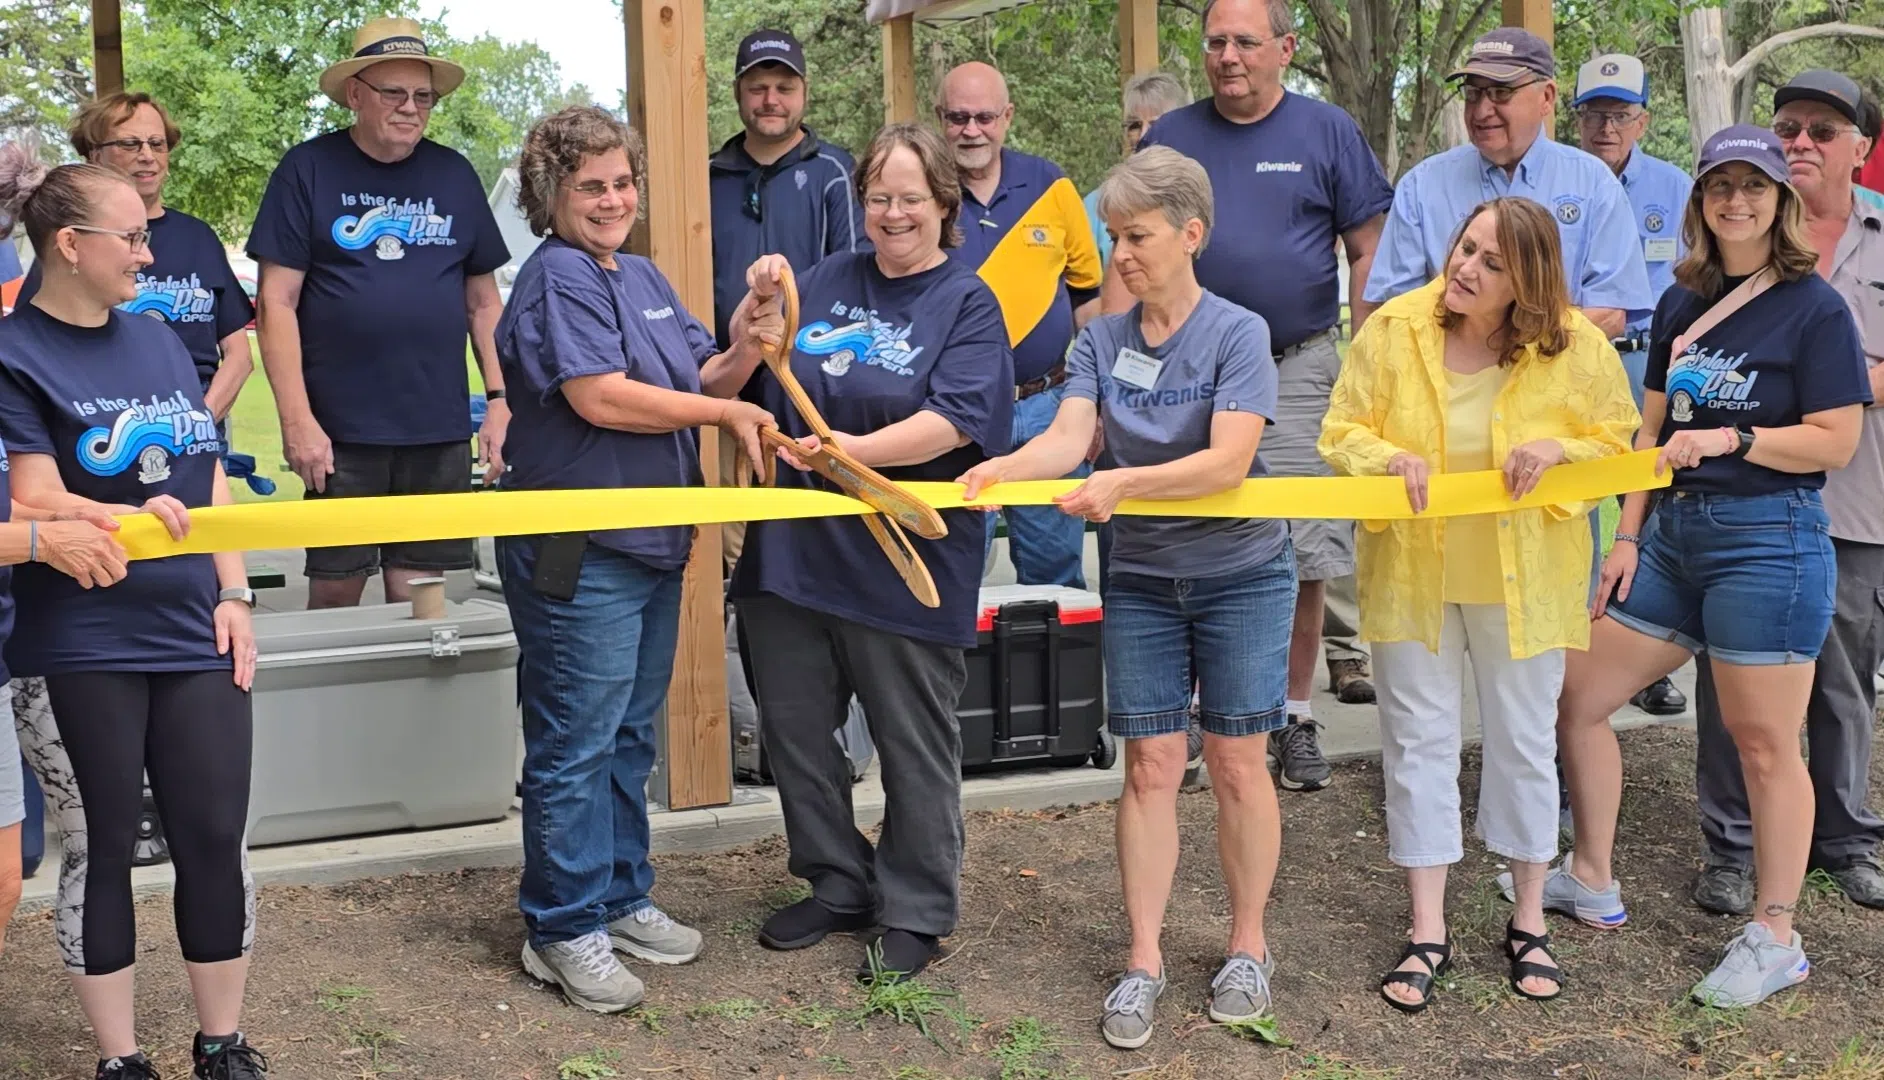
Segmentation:
[[(1400, 452), (1436, 469), (1447, 462), (1445, 332), (1436, 305), (1443, 279), (1381, 305), (1355, 337), (1321, 426), (1321, 456), (1353, 477), (1387, 473)], [(1556, 439), (1566, 462), (1630, 449), (1641, 415), (1615, 347), (1583, 313), (1569, 313), (1569, 347), (1519, 356), (1492, 405), (1490, 454)], [(1496, 515), (1511, 656), (1590, 645), (1590, 503)], [(1447, 518), (1362, 522), (1356, 545), (1360, 635), (1419, 641), (1439, 650)]]

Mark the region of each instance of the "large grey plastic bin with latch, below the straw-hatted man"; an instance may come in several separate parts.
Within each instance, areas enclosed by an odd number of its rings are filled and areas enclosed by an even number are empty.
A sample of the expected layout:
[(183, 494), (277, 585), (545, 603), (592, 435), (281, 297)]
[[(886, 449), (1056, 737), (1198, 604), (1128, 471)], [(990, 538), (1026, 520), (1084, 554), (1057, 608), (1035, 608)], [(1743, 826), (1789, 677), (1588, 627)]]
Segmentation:
[(258, 613), (249, 843), (492, 822), (516, 786), (501, 601)]

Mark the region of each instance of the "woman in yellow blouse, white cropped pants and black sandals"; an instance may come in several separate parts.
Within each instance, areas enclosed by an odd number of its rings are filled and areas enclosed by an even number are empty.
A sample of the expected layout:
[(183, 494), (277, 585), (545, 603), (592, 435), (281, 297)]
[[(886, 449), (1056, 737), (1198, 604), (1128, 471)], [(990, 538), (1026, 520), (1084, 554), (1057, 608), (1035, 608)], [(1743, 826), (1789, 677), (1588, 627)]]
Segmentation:
[[(1445, 277), (1375, 311), (1347, 354), (1321, 454), (1347, 475), (1502, 469), (1513, 498), (1545, 469), (1630, 449), (1639, 417), (1609, 339), (1571, 309), (1556, 221), (1522, 198), (1471, 211)], [(1564, 990), (1543, 922), (1556, 858), (1556, 697), (1590, 639), (1590, 503), (1364, 522), (1360, 633), (1373, 643), (1387, 848), (1407, 869), (1411, 942), (1381, 997), (1419, 1012), (1453, 959), (1445, 873), (1464, 858), (1458, 748), (1466, 656), (1485, 731), (1479, 839), (1511, 861), (1511, 986)]]

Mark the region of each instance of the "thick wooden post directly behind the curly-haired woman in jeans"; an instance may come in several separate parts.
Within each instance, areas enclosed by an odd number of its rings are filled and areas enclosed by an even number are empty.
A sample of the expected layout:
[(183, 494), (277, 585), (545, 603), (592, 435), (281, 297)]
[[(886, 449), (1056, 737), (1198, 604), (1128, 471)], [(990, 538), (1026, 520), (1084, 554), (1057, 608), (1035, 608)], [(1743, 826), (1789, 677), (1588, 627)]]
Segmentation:
[[(706, 196), (706, 4), (625, 0), (627, 111), (648, 143), (646, 224), (635, 251), (654, 258), (697, 319), (712, 317), (712, 213)], [(720, 437), (701, 432), (701, 473), (720, 475)], [(725, 707), (725, 596), (720, 528), (701, 528), (680, 601), (680, 648), (667, 690), (667, 805), (733, 801)]]

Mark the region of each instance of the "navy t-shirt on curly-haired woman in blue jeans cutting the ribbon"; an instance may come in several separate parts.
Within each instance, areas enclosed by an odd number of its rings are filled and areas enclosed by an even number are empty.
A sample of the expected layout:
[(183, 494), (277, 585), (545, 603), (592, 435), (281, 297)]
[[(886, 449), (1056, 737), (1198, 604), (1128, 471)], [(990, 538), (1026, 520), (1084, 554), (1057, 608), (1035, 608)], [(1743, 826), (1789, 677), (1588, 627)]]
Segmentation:
[[(563, 383), (622, 371), (663, 390), (701, 392), (701, 364), (718, 349), (652, 262), (616, 254), (616, 270), (550, 236), (524, 260), (497, 322), (497, 362), (511, 401), (505, 488), (699, 486), (693, 428), (641, 435), (590, 424)], [(590, 543), (656, 569), (680, 569), (691, 526), (610, 530)]]

